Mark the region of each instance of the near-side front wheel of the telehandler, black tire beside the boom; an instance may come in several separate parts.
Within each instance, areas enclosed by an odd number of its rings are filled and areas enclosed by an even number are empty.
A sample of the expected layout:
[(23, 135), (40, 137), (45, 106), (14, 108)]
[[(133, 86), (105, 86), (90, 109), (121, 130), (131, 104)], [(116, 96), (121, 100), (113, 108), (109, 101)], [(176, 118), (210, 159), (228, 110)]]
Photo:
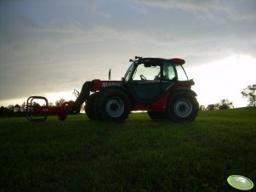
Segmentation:
[(130, 111), (128, 96), (117, 88), (100, 91), (94, 106), (96, 115), (103, 121), (124, 121)]

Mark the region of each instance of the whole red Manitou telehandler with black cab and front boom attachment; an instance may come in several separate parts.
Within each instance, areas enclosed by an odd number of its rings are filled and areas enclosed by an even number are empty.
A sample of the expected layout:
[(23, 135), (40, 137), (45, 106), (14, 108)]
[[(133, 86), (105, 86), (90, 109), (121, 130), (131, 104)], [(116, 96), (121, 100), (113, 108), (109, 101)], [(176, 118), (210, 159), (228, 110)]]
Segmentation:
[[(194, 121), (199, 110), (195, 83), (189, 80), (182, 65), (184, 59), (135, 57), (122, 81), (94, 79), (85, 82), (75, 102), (48, 106), (41, 96), (27, 99), (26, 112), (30, 121), (44, 121), (49, 114), (65, 120), (69, 114), (79, 113), (85, 103), (89, 119), (124, 121), (130, 111), (146, 110), (151, 119), (168, 118), (171, 121)], [(43, 106), (35, 100), (43, 100)]]

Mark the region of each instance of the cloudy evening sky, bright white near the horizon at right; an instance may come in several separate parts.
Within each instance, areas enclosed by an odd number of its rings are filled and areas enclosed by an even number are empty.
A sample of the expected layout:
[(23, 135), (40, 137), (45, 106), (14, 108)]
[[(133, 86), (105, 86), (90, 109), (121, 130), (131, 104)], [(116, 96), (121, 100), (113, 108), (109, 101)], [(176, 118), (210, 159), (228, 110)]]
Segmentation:
[(256, 84), (255, 0), (1, 0), (0, 105), (76, 99), (142, 57), (182, 58), (200, 104)]

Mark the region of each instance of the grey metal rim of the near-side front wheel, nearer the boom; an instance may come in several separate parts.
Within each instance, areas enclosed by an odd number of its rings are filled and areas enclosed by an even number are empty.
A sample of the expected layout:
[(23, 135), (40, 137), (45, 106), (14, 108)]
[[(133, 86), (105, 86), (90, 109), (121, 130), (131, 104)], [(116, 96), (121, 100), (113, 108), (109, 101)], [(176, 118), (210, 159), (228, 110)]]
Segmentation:
[(122, 116), (124, 111), (124, 103), (122, 99), (118, 97), (108, 99), (105, 104), (105, 111), (109, 116), (114, 118)]

